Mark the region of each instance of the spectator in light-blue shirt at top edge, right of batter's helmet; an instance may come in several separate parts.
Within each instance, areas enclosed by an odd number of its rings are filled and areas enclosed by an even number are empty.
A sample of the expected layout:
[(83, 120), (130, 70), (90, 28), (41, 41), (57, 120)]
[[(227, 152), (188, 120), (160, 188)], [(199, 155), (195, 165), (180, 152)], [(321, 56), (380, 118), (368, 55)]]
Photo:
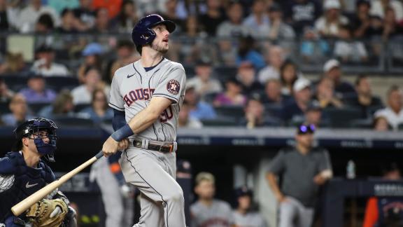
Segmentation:
[(253, 1), (252, 13), (243, 20), (243, 25), (246, 25), (255, 31), (255, 38), (267, 38), (267, 34), (269, 34), (270, 19), (266, 13), (267, 7), (266, 1)]

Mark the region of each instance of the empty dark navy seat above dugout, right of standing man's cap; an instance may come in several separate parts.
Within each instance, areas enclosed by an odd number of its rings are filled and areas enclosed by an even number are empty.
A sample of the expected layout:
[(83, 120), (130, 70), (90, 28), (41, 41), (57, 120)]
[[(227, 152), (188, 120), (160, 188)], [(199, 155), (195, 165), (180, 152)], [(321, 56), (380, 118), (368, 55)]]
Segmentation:
[(330, 119), (330, 123), (334, 128), (350, 128), (351, 121), (360, 119), (362, 112), (360, 109), (353, 107), (344, 107), (342, 109), (326, 108), (323, 109), (323, 116)]

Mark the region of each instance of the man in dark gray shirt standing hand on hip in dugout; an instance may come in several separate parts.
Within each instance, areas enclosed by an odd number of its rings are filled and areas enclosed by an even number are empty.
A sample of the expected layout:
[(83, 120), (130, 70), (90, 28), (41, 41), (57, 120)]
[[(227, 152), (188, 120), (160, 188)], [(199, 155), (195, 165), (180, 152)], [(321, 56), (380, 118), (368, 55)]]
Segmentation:
[(295, 146), (281, 149), (269, 165), (267, 181), (278, 201), (278, 227), (311, 226), (318, 189), (332, 178), (329, 152), (313, 146), (315, 130), (314, 125), (299, 125)]

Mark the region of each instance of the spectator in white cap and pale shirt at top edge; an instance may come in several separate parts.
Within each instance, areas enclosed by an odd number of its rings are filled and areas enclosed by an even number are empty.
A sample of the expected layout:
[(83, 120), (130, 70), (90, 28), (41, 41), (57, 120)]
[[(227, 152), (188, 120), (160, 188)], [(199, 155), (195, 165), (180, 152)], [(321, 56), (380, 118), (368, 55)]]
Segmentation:
[(325, 13), (315, 22), (315, 28), (320, 35), (336, 37), (339, 34), (339, 26), (346, 25), (348, 19), (341, 15), (339, 0), (325, 0), (323, 4)]

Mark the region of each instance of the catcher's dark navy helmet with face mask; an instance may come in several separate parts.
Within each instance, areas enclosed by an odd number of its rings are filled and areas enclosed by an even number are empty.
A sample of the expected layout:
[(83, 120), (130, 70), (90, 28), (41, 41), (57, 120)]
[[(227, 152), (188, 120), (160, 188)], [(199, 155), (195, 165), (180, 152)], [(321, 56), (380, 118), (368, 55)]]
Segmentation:
[(34, 139), (34, 143), (36, 145), (36, 149), (38, 149), (38, 153), (40, 153), (41, 155), (45, 155), (48, 160), (54, 162), (54, 154), (57, 141), (56, 130), (56, 124), (52, 120), (46, 118), (34, 118), (25, 121), (14, 130), (14, 134), (17, 139), (16, 145), (17, 147), (19, 147), (17, 149), (20, 149), (22, 143), (21, 139), (23, 137), (29, 137), (35, 132), (46, 131), (48, 132), (49, 142), (45, 143), (43, 142), (43, 139), (41, 137), (38, 137)]

